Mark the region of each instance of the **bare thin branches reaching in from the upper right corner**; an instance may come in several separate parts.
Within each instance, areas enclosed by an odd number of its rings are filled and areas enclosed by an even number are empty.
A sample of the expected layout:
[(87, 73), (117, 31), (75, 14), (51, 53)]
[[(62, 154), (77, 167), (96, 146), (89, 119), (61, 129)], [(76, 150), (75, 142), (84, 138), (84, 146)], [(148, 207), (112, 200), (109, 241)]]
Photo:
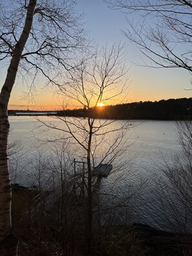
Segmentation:
[(191, 72), (191, 1), (105, 1), (126, 14), (128, 25), (122, 32), (149, 59), (144, 66)]

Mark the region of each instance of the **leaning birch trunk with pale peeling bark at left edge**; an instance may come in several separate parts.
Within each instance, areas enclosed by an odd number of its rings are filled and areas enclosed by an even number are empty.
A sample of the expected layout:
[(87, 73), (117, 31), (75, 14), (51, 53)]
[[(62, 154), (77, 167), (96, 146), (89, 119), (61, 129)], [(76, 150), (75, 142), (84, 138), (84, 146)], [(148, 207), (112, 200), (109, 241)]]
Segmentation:
[(0, 256), (17, 255), (18, 241), (12, 233), (11, 221), (12, 191), (8, 167), (9, 122), (7, 110), (10, 93), (14, 86), (17, 69), (21, 60), (21, 54), (32, 28), (35, 6), (36, 0), (30, 0), (27, 7), (25, 26), (19, 41), (14, 47), (6, 80), (0, 94)]

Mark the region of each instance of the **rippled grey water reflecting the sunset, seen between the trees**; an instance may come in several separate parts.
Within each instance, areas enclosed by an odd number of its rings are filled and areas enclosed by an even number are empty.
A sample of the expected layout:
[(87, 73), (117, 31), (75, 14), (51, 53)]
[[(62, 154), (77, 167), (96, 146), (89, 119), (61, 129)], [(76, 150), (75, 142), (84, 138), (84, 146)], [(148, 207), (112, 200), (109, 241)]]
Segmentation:
[[(52, 150), (52, 144), (46, 143), (48, 140), (55, 140), (60, 136), (63, 138), (61, 131), (49, 131), (47, 127), (41, 126), (41, 124), (32, 117), (25, 116), (10, 116), (10, 142), (14, 140), (20, 140), (24, 157), (19, 161), (20, 165), (25, 165), (25, 158), (35, 158), (37, 153), (48, 155)], [(61, 127), (63, 124), (59, 123), (51, 117), (42, 117), (43, 122), (52, 122), (57, 127)], [(78, 121), (77, 121), (78, 122)], [(99, 121), (98, 121), (99, 122)], [(112, 123), (114, 129), (126, 121), (118, 121)], [(103, 187), (107, 189), (112, 195), (116, 195), (116, 198), (127, 198), (125, 202), (131, 205), (129, 213), (121, 211), (118, 216), (119, 220), (127, 221), (131, 219), (133, 222), (142, 222), (150, 224), (156, 228), (162, 228), (165, 230), (173, 230), (173, 225), (170, 224), (169, 218), (164, 214), (162, 202), (159, 200), (160, 181), (162, 181), (161, 167), (164, 164), (164, 160), (170, 165), (173, 164), (173, 156), (180, 153), (181, 147), (177, 140), (176, 125), (172, 121), (130, 121), (129, 130), (126, 132), (123, 141), (129, 145), (127, 151), (123, 151), (119, 160), (113, 164), (113, 172), (108, 178), (105, 178), (101, 182), (101, 190)], [(84, 125), (84, 124), (83, 124)], [(62, 126), (63, 127), (63, 126)], [(84, 134), (85, 135), (85, 134)], [(113, 135), (114, 136), (114, 135)], [(40, 141), (37, 140), (40, 139)], [(107, 138), (107, 142), (112, 140)], [(43, 143), (43, 146), (39, 146)], [(97, 145), (98, 153), (102, 155), (101, 151), (105, 148), (104, 142), (101, 140)], [(105, 142), (106, 144), (106, 142)], [(50, 146), (51, 145), (51, 146)], [(28, 151), (28, 149), (30, 149)], [(70, 143), (67, 146), (70, 150), (70, 157), (76, 157), (79, 159), (80, 154), (85, 152), (82, 148), (79, 148), (76, 144)], [(106, 151), (106, 148), (105, 148)], [(27, 153), (29, 152), (29, 153)], [(36, 158), (37, 159), (37, 158)], [(38, 158), (39, 159), (39, 158)], [(43, 158), (44, 159), (44, 158)], [(81, 158), (82, 160), (82, 158)], [(41, 159), (41, 165), (43, 160)], [(18, 163), (17, 163), (18, 164)], [(44, 163), (45, 164), (45, 163)], [(118, 166), (122, 165), (122, 168), (118, 169)], [(31, 168), (34, 166), (34, 160), (30, 163), (30, 170), (28, 166), (25, 166), (23, 170), (27, 172), (27, 178), (21, 180), (21, 176), (18, 171), (12, 176), (12, 180), (15, 182), (30, 182), (30, 179), (34, 178), (35, 174), (31, 173)], [(14, 179), (15, 178), (15, 179)], [(20, 180), (19, 180), (20, 179)], [(37, 181), (37, 180), (36, 180)], [(171, 193), (171, 191), (169, 191)], [(161, 195), (162, 197), (164, 195)], [(165, 198), (164, 198), (165, 199)], [(116, 199), (112, 197), (114, 202)], [(109, 204), (109, 196), (105, 204)], [(128, 217), (127, 217), (128, 216)], [(173, 217), (171, 217), (173, 218)], [(191, 225), (191, 222), (189, 222)]]

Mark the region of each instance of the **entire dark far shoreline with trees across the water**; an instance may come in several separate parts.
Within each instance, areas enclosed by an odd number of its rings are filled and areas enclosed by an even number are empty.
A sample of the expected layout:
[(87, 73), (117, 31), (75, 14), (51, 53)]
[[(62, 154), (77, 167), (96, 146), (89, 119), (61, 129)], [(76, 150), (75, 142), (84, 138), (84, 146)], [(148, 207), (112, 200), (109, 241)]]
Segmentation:
[[(29, 114), (30, 111), (8, 111), (8, 114), (14, 114), (16, 112), (26, 112)], [(189, 120), (192, 119), (192, 98), (160, 100), (155, 102), (140, 101), (114, 106), (96, 107), (96, 109), (89, 110), (73, 109), (56, 111), (54, 115), (91, 116), (106, 119)]]

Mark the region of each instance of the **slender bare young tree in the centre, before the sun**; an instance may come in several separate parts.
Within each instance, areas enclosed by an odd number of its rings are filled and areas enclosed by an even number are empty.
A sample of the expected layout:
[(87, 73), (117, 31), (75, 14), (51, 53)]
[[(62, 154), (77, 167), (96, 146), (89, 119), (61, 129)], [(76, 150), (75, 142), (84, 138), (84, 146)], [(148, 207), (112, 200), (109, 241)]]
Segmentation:
[[(83, 118), (57, 117), (57, 123), (47, 123), (48, 129), (58, 131), (56, 140), (70, 139), (70, 147), (75, 147), (76, 155), (86, 158), (87, 164), (87, 248), (92, 249), (93, 201), (92, 180), (96, 165), (110, 164), (123, 151), (123, 133), (130, 128), (126, 121), (100, 120), (104, 104), (125, 102), (127, 98), (127, 67), (121, 45), (103, 47), (91, 58), (83, 56), (81, 65), (71, 70), (68, 81), (60, 87), (60, 93), (73, 105), (83, 107)], [(64, 135), (63, 135), (64, 133)], [(55, 138), (50, 138), (55, 140)]]

